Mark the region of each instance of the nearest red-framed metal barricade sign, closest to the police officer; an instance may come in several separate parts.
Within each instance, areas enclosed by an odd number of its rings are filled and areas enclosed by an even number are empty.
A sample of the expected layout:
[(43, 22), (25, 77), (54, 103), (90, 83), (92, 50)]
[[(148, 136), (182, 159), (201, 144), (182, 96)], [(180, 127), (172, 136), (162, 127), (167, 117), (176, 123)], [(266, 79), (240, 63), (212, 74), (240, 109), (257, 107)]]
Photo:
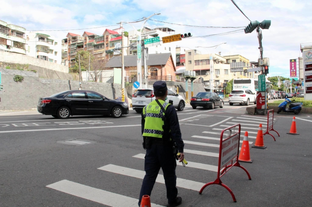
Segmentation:
[[(239, 130), (238, 130), (238, 132), (235, 132), (235, 127), (237, 127), (237, 126), (238, 126)], [(233, 128), (234, 128), (234, 130), (232, 130)], [(223, 140), (223, 134), (225, 131), (228, 131), (229, 133), (227, 134), (228, 137)], [(232, 135), (232, 133), (234, 133), (234, 134)], [(226, 134), (224, 134), (224, 135), (226, 135)], [(220, 136), (220, 150), (219, 150), (217, 179), (214, 182), (208, 182), (207, 184), (202, 186), (202, 188), (199, 191), (199, 194), (202, 194), (202, 191), (207, 186), (216, 184), (216, 185), (220, 185), (220, 186), (225, 187), (230, 192), (230, 194), (232, 195), (233, 201), (236, 202), (235, 195), (233, 194), (233, 192), (231, 191), (231, 189), (228, 186), (226, 186), (225, 184), (222, 183), (220, 178), (225, 173), (227, 173), (227, 171), (229, 171), (232, 167), (236, 166), (236, 167), (242, 168), (247, 173), (249, 180), (251, 180), (251, 177), (250, 177), (250, 174), (248, 173), (248, 171), (238, 163), (240, 136), (241, 136), (241, 125), (240, 124), (236, 124), (232, 127), (228, 127), (226, 129), (222, 130), (221, 136)], [(234, 159), (236, 159), (236, 160), (233, 163)]]

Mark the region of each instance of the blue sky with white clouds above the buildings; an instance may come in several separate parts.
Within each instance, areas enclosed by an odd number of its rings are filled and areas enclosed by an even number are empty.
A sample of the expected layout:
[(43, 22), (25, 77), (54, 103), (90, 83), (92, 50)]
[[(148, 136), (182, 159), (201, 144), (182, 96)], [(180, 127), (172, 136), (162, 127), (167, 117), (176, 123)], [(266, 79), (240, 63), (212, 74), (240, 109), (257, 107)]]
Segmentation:
[[(251, 21), (271, 20), (271, 27), (262, 30), (264, 57), (270, 58), (269, 76), (289, 77), (289, 60), (302, 56), (300, 43), (312, 42), (312, 1), (306, 0), (236, 0)], [(120, 21), (132, 22), (154, 13), (151, 19), (175, 24), (217, 27), (246, 27), (249, 20), (230, 0), (89, 0), (89, 1), (46, 1), (46, 0), (0, 0), (0, 20), (26, 28), (42, 31), (56, 40), (66, 38), (68, 32), (82, 35), (84, 31), (103, 34), (105, 28), (116, 29)], [(220, 34), (243, 28), (207, 29), (170, 25), (149, 20), (147, 27), (166, 26), (175, 34), (193, 33), (193, 37)], [(112, 26), (110, 26), (112, 25)], [(134, 23), (139, 29), (142, 22)], [(95, 28), (100, 27), (100, 28)], [(126, 31), (133, 30), (124, 24)], [(93, 29), (84, 29), (93, 28)], [(79, 29), (79, 30), (77, 30)], [(181, 47), (208, 48), (210, 53), (222, 55), (240, 54), (250, 61), (257, 61), (259, 42), (256, 31), (250, 34), (237, 32), (205, 38), (185, 38), (177, 42)], [(203, 48), (197, 48), (207, 53)]]

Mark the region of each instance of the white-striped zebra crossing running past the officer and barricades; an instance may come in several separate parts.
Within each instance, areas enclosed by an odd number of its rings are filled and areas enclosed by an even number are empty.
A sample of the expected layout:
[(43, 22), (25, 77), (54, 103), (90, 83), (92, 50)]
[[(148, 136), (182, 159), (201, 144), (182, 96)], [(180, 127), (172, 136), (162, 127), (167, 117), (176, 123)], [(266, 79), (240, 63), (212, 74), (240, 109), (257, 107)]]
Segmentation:
[[(199, 121), (200, 122), (200, 121)], [(246, 123), (247, 122), (247, 123)], [(266, 124), (266, 118), (262, 117), (252, 117), (241, 115), (239, 117), (232, 117), (231, 119), (227, 118), (226, 121), (219, 123), (218, 125), (214, 125), (213, 127), (202, 127), (201, 132), (196, 132), (196, 135), (190, 137), (183, 137), (184, 141), (184, 153), (186, 154), (186, 159), (188, 164), (186, 165), (187, 168), (193, 168), (193, 170), (198, 170), (200, 172), (210, 172), (211, 173), (211, 180), (213, 181), (214, 178), (217, 176), (216, 172), (218, 170), (218, 157), (219, 157), (219, 145), (220, 145), (220, 135), (221, 131), (224, 128), (231, 127), (234, 124), (241, 123), (241, 137), (243, 137), (244, 132), (242, 130), (248, 131), (249, 134), (253, 134), (255, 136), (249, 136), (249, 138), (256, 138), (256, 134), (258, 131), (259, 124)], [(216, 127), (216, 128), (214, 128)], [(266, 125), (263, 125), (265, 129)], [(224, 135), (227, 135), (226, 133)], [(255, 140), (249, 140), (249, 144), (253, 144)], [(240, 141), (242, 143), (242, 139)], [(199, 149), (200, 148), (200, 149)], [(203, 150), (204, 149), (204, 150)], [(188, 157), (189, 154), (189, 157)], [(192, 156), (191, 156), (192, 155)], [(197, 159), (202, 158), (200, 156), (204, 156), (205, 162), (198, 162)], [(129, 156), (129, 159), (141, 159), (143, 160), (145, 154), (132, 154)], [(177, 162), (177, 168), (181, 168), (182, 163)], [(144, 162), (142, 162), (142, 168), (144, 169)], [(99, 166), (97, 168), (99, 171), (105, 171), (109, 173), (115, 173), (122, 175), (123, 177), (133, 177), (138, 179), (138, 182), (142, 182), (145, 176), (144, 170), (138, 170), (133, 168), (127, 168), (124, 166), (119, 166), (115, 164), (106, 164), (102, 167)], [(206, 174), (207, 174), (206, 173)], [(209, 174), (210, 175), (210, 174)], [(114, 181), (112, 181), (114, 182)], [(163, 175), (158, 174), (156, 179), (157, 183), (164, 184)], [(208, 182), (208, 181), (207, 181)], [(177, 187), (182, 189), (188, 189), (192, 191), (199, 191), (200, 188), (205, 183), (196, 181), (196, 178), (193, 180), (188, 180), (184, 178), (177, 178)], [(91, 186), (82, 185), (77, 182), (72, 182), (69, 180), (61, 180), (46, 187), (54, 189), (56, 191), (61, 191), (66, 194), (74, 195), (80, 198), (84, 198), (87, 200), (91, 200), (103, 205), (112, 206), (112, 207), (134, 207), (138, 205), (138, 199), (128, 197), (126, 195), (120, 195), (109, 191), (104, 191), (101, 189), (97, 189)], [(138, 193), (139, 193), (138, 189)], [(162, 205), (152, 204), (152, 207), (161, 207)], [(183, 205), (182, 205), (183, 206)]]

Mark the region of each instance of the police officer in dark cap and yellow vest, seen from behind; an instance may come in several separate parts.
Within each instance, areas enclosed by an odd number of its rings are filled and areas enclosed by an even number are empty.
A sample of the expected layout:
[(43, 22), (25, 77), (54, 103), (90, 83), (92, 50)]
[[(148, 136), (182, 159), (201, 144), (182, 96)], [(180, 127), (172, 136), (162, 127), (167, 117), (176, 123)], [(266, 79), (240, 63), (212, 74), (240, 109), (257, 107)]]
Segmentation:
[(168, 94), (166, 82), (156, 81), (153, 88), (156, 100), (145, 106), (142, 112), (146, 174), (140, 192), (139, 206), (143, 195), (151, 195), (158, 172), (162, 168), (167, 189), (167, 206), (173, 207), (182, 203), (182, 198), (177, 197), (177, 176), (175, 174), (177, 162), (173, 154), (173, 143), (176, 143), (181, 154), (179, 162), (184, 159), (184, 143), (181, 138), (177, 112), (172, 104), (165, 102)]

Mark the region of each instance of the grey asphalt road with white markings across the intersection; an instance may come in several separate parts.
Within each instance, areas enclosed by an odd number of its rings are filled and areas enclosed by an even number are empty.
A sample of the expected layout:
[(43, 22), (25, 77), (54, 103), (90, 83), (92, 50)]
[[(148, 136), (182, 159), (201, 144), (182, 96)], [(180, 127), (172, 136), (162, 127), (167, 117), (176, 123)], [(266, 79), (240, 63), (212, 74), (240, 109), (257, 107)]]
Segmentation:
[[(296, 116), (300, 135), (289, 135), (292, 114), (275, 114), (274, 129), (264, 136), (265, 150), (251, 148), (264, 116), (244, 115), (245, 106), (178, 112), (185, 141), (186, 167), (177, 166), (178, 192), (186, 206), (310, 206), (312, 202), (312, 118)], [(201, 186), (217, 178), (220, 132), (241, 123), (249, 132), (250, 173), (230, 169), (223, 187)], [(263, 127), (265, 131), (266, 127)], [(243, 132), (241, 133), (243, 135)], [(36, 112), (0, 113), (0, 206), (137, 206), (144, 177), (140, 115), (119, 119), (78, 116), (59, 120)], [(72, 140), (74, 143), (70, 143)], [(242, 137), (241, 137), (242, 140)], [(70, 141), (70, 142), (68, 142)], [(88, 143), (82, 144), (86, 141)], [(159, 174), (162, 174), (161, 170)], [(167, 204), (162, 176), (151, 195), (154, 206)]]

